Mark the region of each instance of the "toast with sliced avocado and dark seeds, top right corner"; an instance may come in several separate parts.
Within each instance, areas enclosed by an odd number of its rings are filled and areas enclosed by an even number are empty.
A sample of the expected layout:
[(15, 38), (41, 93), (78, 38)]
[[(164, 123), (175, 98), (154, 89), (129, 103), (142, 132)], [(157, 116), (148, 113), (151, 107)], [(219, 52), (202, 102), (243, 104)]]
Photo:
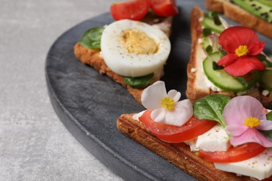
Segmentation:
[(272, 38), (272, 1), (206, 0), (206, 8)]

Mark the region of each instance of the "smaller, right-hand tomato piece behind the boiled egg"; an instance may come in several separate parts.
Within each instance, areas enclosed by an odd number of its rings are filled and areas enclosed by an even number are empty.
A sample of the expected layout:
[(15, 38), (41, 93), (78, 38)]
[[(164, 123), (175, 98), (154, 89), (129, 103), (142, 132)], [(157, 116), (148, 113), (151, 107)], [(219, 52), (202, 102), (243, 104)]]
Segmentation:
[(151, 9), (156, 15), (167, 17), (179, 13), (175, 0), (151, 0)]

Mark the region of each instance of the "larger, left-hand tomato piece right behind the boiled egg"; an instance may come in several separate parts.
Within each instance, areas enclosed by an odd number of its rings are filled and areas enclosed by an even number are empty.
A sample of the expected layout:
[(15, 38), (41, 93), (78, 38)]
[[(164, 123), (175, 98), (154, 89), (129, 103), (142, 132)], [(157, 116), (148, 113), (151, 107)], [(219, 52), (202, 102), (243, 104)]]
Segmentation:
[(132, 19), (138, 21), (146, 15), (150, 6), (150, 0), (124, 1), (113, 3), (110, 6), (110, 11), (115, 20)]

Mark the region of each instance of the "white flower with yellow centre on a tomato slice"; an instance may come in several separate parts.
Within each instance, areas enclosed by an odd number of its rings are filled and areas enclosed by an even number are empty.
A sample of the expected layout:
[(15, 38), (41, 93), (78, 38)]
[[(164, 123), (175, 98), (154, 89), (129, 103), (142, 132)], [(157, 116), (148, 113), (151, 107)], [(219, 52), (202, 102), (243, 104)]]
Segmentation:
[(167, 93), (164, 81), (156, 81), (142, 92), (142, 105), (150, 109), (151, 118), (167, 125), (181, 126), (192, 117), (192, 103), (181, 100), (181, 93), (171, 90)]

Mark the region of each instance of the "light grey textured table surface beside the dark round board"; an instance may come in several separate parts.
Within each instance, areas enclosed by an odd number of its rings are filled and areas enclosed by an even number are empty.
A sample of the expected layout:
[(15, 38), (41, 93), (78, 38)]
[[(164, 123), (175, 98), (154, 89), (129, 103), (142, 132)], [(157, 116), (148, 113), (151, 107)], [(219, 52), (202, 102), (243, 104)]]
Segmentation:
[(0, 180), (122, 180), (63, 126), (45, 82), (54, 40), (112, 2), (0, 0)]

